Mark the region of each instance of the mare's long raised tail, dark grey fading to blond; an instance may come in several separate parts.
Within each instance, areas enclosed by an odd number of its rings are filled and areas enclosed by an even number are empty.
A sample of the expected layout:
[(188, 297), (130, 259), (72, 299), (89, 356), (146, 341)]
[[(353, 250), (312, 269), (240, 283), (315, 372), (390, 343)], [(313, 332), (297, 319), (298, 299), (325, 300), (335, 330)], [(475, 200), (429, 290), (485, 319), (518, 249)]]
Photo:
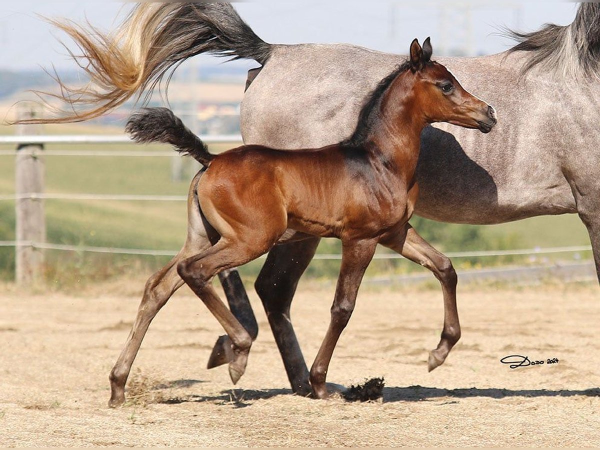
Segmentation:
[(71, 57), (91, 82), (69, 87), (57, 77), (60, 94), (36, 93), (47, 104), (54, 98), (66, 105), (59, 117), (22, 122), (80, 122), (103, 115), (133, 96), (139, 100), (145, 89), (148, 98), (165, 76), (168, 85), (179, 64), (199, 53), (264, 64), (272, 50), (229, 3), (141, 2), (110, 33), (89, 23), (49, 22), (73, 38), (82, 55), (71, 53)]

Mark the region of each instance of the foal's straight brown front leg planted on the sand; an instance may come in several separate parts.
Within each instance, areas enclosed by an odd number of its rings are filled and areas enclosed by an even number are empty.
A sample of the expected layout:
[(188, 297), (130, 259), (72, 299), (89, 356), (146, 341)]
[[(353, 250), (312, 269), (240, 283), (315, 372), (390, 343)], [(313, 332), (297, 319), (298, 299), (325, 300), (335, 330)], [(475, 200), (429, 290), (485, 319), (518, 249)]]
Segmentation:
[(313, 367), (310, 369), (310, 383), (316, 398), (327, 398), (328, 396), (325, 379), (329, 362), (334, 353), (335, 344), (352, 316), (362, 276), (373, 259), (376, 247), (377, 241), (374, 239), (342, 242), (340, 277), (331, 306), (331, 321), (319, 353), (314, 359)]

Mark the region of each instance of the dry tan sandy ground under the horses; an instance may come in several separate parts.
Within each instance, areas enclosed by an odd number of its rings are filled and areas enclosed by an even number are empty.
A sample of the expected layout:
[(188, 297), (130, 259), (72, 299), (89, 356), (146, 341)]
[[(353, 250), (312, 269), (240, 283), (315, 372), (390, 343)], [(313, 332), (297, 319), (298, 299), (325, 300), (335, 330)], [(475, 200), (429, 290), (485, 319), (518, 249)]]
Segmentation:
[[(332, 288), (301, 285), (293, 305), (309, 364), (331, 299)], [(221, 329), (184, 291), (146, 335), (132, 371), (138, 397), (109, 409), (107, 377), (139, 298), (3, 287), (0, 446), (600, 445), (595, 284), (461, 289), (463, 338), (432, 373), (441, 293), (362, 290), (328, 381), (385, 377), (383, 400), (369, 403), (292, 395), (260, 302), (251, 300), (261, 332), (235, 389), (226, 367), (205, 369)], [(511, 370), (500, 363), (511, 354), (559, 362)]]

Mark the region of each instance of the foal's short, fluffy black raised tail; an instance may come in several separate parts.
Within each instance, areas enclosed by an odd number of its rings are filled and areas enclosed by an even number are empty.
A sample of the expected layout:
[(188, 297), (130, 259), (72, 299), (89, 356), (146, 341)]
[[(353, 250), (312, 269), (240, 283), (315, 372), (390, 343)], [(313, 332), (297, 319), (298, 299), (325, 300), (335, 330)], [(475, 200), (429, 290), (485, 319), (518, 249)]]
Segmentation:
[(215, 157), (208, 152), (206, 144), (167, 108), (139, 110), (129, 118), (125, 131), (136, 142), (169, 143), (175, 146), (178, 152), (190, 155), (205, 167)]

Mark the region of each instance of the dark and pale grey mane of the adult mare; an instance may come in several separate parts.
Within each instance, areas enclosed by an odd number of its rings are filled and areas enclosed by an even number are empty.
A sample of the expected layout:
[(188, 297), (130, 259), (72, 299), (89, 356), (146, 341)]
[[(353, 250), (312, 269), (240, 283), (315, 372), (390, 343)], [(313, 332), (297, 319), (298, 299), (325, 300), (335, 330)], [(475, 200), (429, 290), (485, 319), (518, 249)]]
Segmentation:
[(507, 34), (519, 41), (509, 53), (530, 52), (523, 73), (543, 65), (562, 73), (563, 77), (600, 77), (599, 3), (581, 3), (570, 25), (547, 23), (538, 31), (508, 30)]

